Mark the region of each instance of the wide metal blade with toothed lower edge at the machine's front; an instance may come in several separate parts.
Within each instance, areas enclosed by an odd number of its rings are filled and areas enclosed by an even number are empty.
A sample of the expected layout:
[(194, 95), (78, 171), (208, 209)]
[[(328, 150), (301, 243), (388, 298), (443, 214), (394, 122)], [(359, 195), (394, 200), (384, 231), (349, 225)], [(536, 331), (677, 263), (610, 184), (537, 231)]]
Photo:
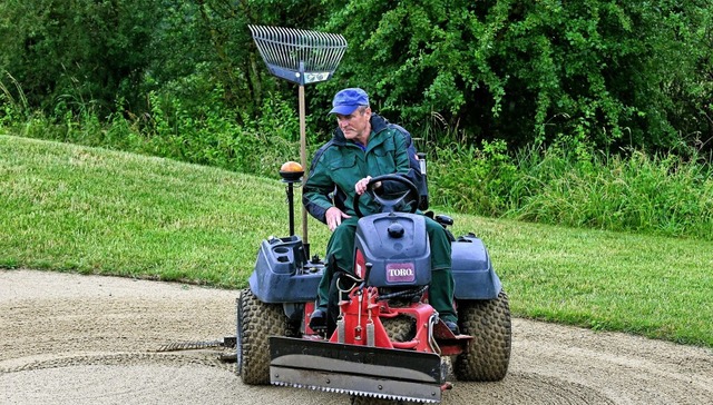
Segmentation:
[(270, 338), (275, 385), (383, 399), (441, 401), (441, 359), (432, 353)]

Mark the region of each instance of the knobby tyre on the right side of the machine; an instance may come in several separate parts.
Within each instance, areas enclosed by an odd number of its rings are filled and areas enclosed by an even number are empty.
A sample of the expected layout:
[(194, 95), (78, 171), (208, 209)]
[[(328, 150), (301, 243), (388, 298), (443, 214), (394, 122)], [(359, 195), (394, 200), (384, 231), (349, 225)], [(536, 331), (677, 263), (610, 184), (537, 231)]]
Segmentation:
[(472, 336), (468, 350), (456, 357), (453, 374), (465, 382), (497, 382), (510, 363), (512, 330), (508, 296), (492, 300), (458, 302), (460, 330)]

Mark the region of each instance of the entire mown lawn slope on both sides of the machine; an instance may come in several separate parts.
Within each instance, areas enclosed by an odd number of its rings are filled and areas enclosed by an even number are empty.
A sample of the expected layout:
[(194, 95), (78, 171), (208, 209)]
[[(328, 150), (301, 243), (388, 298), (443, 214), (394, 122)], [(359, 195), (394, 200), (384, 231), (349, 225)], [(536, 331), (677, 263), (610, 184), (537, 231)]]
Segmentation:
[[(241, 288), (260, 241), (289, 233), (277, 180), (2, 135), (0, 156), (0, 267)], [(514, 315), (713, 347), (710, 241), (452, 216)], [(310, 221), (313, 254), (328, 237)]]

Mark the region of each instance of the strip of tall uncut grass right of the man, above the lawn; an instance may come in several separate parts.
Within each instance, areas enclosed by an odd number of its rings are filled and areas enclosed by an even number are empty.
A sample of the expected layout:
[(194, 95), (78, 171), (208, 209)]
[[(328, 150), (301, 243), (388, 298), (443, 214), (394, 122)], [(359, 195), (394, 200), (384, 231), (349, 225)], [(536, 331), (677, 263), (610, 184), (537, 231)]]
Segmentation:
[(713, 240), (713, 167), (697, 157), (585, 154), (498, 142), (438, 150), (431, 190), (460, 211)]

